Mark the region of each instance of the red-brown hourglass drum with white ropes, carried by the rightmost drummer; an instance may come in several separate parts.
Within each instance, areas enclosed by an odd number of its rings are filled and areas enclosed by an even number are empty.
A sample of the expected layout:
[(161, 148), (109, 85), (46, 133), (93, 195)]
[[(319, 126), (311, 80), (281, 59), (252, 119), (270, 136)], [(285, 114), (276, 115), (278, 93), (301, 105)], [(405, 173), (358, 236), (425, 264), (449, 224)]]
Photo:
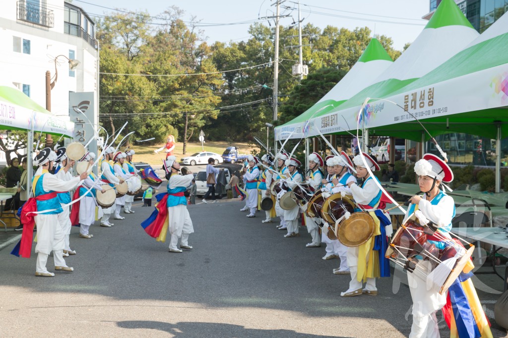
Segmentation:
[[(427, 285), (443, 294), (461, 272), (472, 270), (470, 257), (474, 245), (466, 250), (460, 242), (443, 237), (447, 246), (440, 250), (427, 240), (427, 235), (435, 235), (434, 230), (422, 226), (411, 215), (395, 233), (385, 257), (404, 270), (419, 274), (419, 277), (426, 279)], [(418, 265), (424, 262), (427, 262), (428, 269), (419, 269)]]

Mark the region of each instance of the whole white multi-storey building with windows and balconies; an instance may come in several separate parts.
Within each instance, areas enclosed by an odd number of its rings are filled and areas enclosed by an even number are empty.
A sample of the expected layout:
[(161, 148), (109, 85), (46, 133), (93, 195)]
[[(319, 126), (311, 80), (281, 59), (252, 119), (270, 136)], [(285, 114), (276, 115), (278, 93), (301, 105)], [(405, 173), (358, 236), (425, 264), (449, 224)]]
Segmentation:
[[(49, 71), (53, 114), (69, 116), (70, 92), (93, 92), (98, 115), (99, 43), (95, 23), (80, 7), (64, 0), (6, 0), (0, 27), (0, 85), (16, 87), (46, 107)], [(68, 59), (78, 66), (71, 70)]]

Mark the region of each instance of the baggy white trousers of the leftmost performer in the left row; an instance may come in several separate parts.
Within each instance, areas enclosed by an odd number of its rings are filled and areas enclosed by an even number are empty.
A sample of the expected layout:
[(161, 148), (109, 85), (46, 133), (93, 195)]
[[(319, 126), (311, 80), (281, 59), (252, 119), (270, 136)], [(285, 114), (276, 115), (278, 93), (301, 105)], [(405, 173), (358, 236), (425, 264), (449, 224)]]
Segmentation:
[(58, 221), (58, 214), (37, 214), (35, 222), (37, 224), (37, 245), (35, 247), (35, 252), (38, 253), (37, 272), (48, 273), (46, 262), (51, 251), (53, 251), (55, 267), (66, 266), (63, 259), (65, 235)]

